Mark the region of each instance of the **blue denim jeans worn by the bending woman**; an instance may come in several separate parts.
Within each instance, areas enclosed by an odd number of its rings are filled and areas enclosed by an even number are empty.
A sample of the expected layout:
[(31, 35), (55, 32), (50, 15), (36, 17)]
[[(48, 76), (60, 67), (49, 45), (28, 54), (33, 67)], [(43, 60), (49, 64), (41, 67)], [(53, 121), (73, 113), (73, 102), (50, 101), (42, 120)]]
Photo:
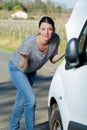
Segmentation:
[(32, 89), (36, 72), (23, 73), (9, 61), (8, 71), (12, 82), (17, 88), (9, 130), (19, 130), (20, 119), (24, 112), (26, 130), (35, 130), (36, 97)]

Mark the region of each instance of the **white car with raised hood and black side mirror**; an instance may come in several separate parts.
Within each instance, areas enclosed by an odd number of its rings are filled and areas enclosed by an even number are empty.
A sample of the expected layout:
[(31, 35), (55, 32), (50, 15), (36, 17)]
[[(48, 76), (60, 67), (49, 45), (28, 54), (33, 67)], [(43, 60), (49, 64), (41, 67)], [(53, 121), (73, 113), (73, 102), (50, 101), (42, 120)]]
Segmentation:
[(87, 130), (87, 0), (77, 1), (66, 33), (65, 59), (48, 95), (50, 130)]

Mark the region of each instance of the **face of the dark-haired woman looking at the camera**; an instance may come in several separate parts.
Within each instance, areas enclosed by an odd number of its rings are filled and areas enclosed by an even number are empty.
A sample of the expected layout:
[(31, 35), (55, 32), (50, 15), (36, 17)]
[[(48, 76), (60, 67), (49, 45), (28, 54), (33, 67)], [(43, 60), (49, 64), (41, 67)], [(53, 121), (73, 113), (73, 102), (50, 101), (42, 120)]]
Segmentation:
[(39, 27), (39, 33), (43, 40), (49, 41), (49, 39), (52, 37), (54, 32), (53, 26), (49, 23), (42, 22)]

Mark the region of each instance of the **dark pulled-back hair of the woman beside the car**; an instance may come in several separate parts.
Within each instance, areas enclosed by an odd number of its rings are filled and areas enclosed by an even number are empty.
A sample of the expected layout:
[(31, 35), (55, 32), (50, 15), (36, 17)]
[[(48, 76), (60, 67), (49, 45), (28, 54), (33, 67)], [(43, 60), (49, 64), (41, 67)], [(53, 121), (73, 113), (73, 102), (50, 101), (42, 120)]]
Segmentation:
[(52, 20), (52, 18), (50, 18), (48, 16), (42, 17), (41, 20), (39, 21), (39, 28), (40, 28), (42, 22), (51, 24), (55, 31), (55, 25), (54, 25), (54, 21)]

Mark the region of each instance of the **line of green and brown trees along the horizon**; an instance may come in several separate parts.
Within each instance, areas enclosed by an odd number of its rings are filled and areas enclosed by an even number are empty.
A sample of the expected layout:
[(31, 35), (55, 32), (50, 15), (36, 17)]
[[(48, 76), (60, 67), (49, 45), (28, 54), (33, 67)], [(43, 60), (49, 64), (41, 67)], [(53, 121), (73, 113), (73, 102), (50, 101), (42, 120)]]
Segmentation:
[(42, 12), (42, 13), (62, 13), (61, 5), (55, 6), (50, 0), (44, 3), (42, 0), (0, 0), (0, 10), (16, 11), (22, 10), (25, 12)]

